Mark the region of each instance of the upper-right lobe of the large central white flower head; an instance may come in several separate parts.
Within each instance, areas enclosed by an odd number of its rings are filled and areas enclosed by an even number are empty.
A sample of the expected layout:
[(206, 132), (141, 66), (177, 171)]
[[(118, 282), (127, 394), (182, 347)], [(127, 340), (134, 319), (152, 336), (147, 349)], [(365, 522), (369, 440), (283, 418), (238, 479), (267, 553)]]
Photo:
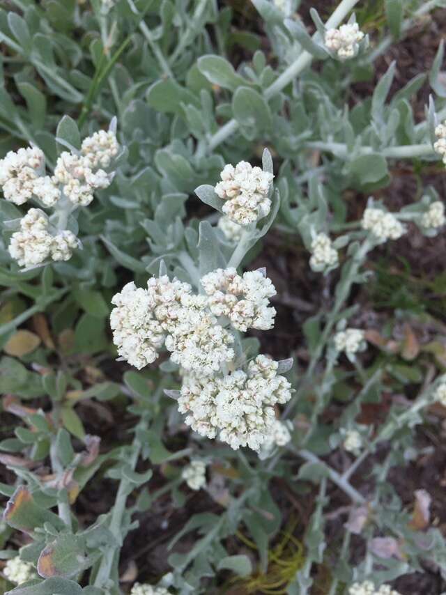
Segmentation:
[(274, 325), (275, 308), (269, 298), (275, 286), (260, 270), (247, 271), (243, 277), (235, 268), (217, 269), (201, 278), (209, 296), (208, 306), (215, 316), (227, 316), (237, 330), (268, 330)]

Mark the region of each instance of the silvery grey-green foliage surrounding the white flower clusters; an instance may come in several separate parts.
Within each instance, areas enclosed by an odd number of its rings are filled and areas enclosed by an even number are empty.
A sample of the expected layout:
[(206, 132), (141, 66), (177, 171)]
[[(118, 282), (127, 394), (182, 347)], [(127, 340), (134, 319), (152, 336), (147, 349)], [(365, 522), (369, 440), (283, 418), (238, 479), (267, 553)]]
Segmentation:
[[(408, 511), (386, 481), (392, 466), (415, 456), (413, 428), (422, 423), (422, 413), (436, 398), (441, 379), (425, 383), (414, 401), (395, 401), (385, 421), (371, 431), (355, 421), (362, 404), (379, 402), (383, 392), (392, 390), (388, 384), (392, 375), (401, 380), (403, 371), (388, 364), (387, 375), (378, 369), (364, 376), (358, 358), (351, 357), (357, 366), (357, 383), (348, 385), (351, 396), (334, 424), (321, 421), (343, 373), (344, 355), (334, 344), (334, 334), (348, 328), (348, 319), (355, 313), (355, 307), (348, 307), (351, 289), (367, 281), (364, 263), (383, 240), (362, 229), (360, 221), (346, 226), (343, 192), (353, 189), (368, 194), (387, 187), (396, 159), (415, 159), (420, 164), (440, 160), (433, 143), (436, 126), (446, 117), (446, 88), (439, 76), (443, 45), (429, 72), (426, 121), (415, 123), (410, 104), (425, 82), (424, 74), (390, 96), (397, 68), (392, 63), (371, 98), (353, 109), (346, 107), (348, 85), (367, 77), (374, 59), (403, 36), (414, 20), (444, 2), (414, 1), (406, 10), (403, 0), (387, 0), (389, 33), (374, 47), (365, 36), (349, 59), (339, 59), (323, 40), (326, 29), (348, 20), (357, 0), (341, 1), (326, 24), (312, 10), (314, 36), (290, 18), (298, 9), (297, 0), (253, 0), (253, 4), (274, 61), (256, 49), (259, 43), (252, 33), (234, 33), (231, 9), (219, 11), (214, 0), (54, 0), (45, 9), (27, 0), (15, 3), (13, 12), (0, 10), (0, 42), (7, 52), (0, 68), (2, 155), (31, 143), (44, 150), (48, 167), (54, 167), (62, 150), (76, 146), (81, 134), (107, 129), (114, 116), (119, 142), (125, 147), (112, 186), (98, 192), (91, 206), (68, 222), (70, 229), (79, 230), (83, 247), (70, 261), (20, 272), (10, 261), (7, 246), (8, 222), (20, 218), (22, 211), (0, 201), (4, 231), (0, 279), (10, 295), (32, 304), (3, 325), (2, 346), (38, 312), (49, 316), (59, 336), (75, 329), (74, 346), (65, 347), (63, 371), (52, 369), (43, 348), (33, 369), (24, 365), (33, 362), (29, 357), (24, 363), (13, 357), (1, 361), (1, 389), (15, 395), (3, 406), (21, 420), (16, 438), (0, 445), (2, 462), (20, 480), (17, 489), (0, 486), (10, 499), (4, 520), (8, 527), (31, 536), (20, 549), (20, 558), (38, 573), (38, 578), (13, 589), (16, 595), (121, 593), (118, 552), (125, 536), (137, 526), (133, 513), (144, 513), (159, 496), (150, 481), (153, 470), (158, 472), (161, 463), (169, 463), (166, 490), (176, 506), (184, 506), (182, 468), (196, 455), (206, 464), (224, 461), (235, 479), (225, 480), (226, 497), (219, 501), (224, 504), (218, 514), (192, 516), (172, 539), (170, 548), (185, 534), (197, 536), (186, 553), (170, 553), (171, 573), (159, 589), (204, 593), (220, 571), (230, 570), (240, 577), (266, 572), (268, 543), (284, 520), (269, 489), (277, 478), (290, 482), (291, 490), (297, 490), (294, 497), (312, 484), (318, 490), (302, 537), (305, 560), (287, 586), (289, 593), (309, 593), (314, 568), (327, 562), (324, 530), (329, 521), (324, 511), (330, 486), (343, 494), (350, 515), (337, 544), (343, 563), (337, 564), (337, 555), (336, 564), (330, 566), (330, 595), (369, 579), (378, 588), (400, 575), (420, 571), (422, 564), (446, 573), (440, 532), (429, 528), (421, 533), (410, 525)], [(354, 22), (353, 15), (349, 23)], [(238, 68), (224, 57), (224, 49), (233, 43), (242, 44), (250, 56)], [(74, 115), (77, 124), (70, 121), (72, 125), (55, 140), (53, 132), (65, 114)], [(222, 200), (213, 187), (225, 164), (259, 162), (259, 146), (268, 146), (275, 158), (272, 207), (267, 217), (234, 240), (218, 225)], [(315, 152), (321, 155), (317, 167)], [(270, 153), (263, 153), (263, 168), (272, 172)], [(213, 210), (201, 210), (197, 196)], [(440, 229), (425, 223), (438, 222), (438, 210), (434, 219), (425, 215), (442, 198), (433, 188), (424, 187), (420, 196), (408, 197), (407, 206), (394, 215), (402, 226), (414, 222), (422, 233), (435, 236)], [(186, 206), (189, 214), (197, 216), (187, 217)], [(385, 201), (371, 199), (369, 208), (387, 212)], [(206, 273), (248, 265), (271, 226), (301, 241), (308, 260), (320, 233), (330, 238), (330, 246), (339, 254), (328, 258), (328, 266), (318, 263), (314, 270), (319, 270), (311, 273), (328, 275), (340, 269), (329, 307), (302, 326), (309, 361), (294, 366), (290, 374), (296, 392), (282, 411), (287, 422), (294, 422), (288, 445), (272, 447), (259, 458), (235, 455), (229, 447), (185, 433), (176, 404), (164, 395), (165, 389), (178, 398), (178, 370), (170, 362), (148, 373), (126, 371), (118, 383), (91, 380), (86, 385), (79, 380), (77, 357), (112, 353), (105, 327), (109, 298), (120, 290), (121, 277), (142, 286), (150, 275), (169, 275), (199, 290), (199, 279)], [(259, 353), (252, 338), (239, 338), (236, 349), (240, 361)], [(281, 373), (289, 371), (288, 360), (281, 365)], [(99, 438), (85, 435), (73, 403), (120, 395), (132, 399), (129, 410), (137, 419), (133, 440), (99, 454)], [(52, 403), (49, 419), (43, 410), (24, 408), (21, 403), (42, 396)], [(162, 442), (166, 425), (169, 434), (184, 436), (184, 449), (167, 450)], [(347, 449), (349, 466), (339, 472), (322, 457), (334, 449), (345, 450), (346, 435), (352, 432), (356, 437), (359, 433), (360, 440), (355, 442), (355, 452)], [(73, 435), (78, 439), (75, 446)], [(389, 443), (392, 449), (386, 447)], [(353, 485), (353, 473), (378, 449), (385, 458), (371, 472), (371, 492), (362, 494)], [(52, 472), (43, 474), (33, 463), (47, 457)], [(137, 472), (141, 459), (146, 471), (139, 467)], [(75, 518), (72, 502), (80, 490), (88, 489), (91, 477), (101, 469), (105, 472), (106, 462), (107, 477), (118, 482), (116, 503), (85, 527)], [(210, 488), (203, 489), (212, 494)], [(136, 495), (131, 504), (130, 493)], [(258, 568), (251, 557), (234, 552), (227, 539), (240, 527), (256, 543)], [(351, 556), (352, 534), (357, 534), (367, 552), (363, 559)], [(382, 537), (403, 543), (403, 555), (378, 555), (383, 552), (376, 549), (376, 539)], [(1, 552), (2, 557), (13, 555), (11, 550)], [(82, 575), (82, 584), (89, 582), (88, 587), (80, 586)]]

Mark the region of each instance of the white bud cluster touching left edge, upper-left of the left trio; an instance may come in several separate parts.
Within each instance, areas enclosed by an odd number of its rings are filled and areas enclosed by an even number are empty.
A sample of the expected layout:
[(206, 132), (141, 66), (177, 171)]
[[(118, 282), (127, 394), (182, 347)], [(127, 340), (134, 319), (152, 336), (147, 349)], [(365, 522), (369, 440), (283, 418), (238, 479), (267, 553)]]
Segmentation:
[(45, 206), (59, 200), (59, 189), (45, 173), (45, 155), (38, 147), (9, 151), (0, 160), (0, 186), (7, 201), (22, 205), (36, 197)]

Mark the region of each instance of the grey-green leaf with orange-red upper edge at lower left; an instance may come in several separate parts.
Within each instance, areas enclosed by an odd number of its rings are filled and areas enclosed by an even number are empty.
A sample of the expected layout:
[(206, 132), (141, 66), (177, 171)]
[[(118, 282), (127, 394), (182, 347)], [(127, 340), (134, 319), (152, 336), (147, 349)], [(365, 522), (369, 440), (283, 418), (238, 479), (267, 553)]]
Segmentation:
[(8, 500), (3, 520), (10, 527), (24, 533), (32, 533), (36, 527), (42, 527), (44, 523), (50, 523), (59, 530), (66, 527), (59, 516), (39, 507), (25, 486), (19, 486)]

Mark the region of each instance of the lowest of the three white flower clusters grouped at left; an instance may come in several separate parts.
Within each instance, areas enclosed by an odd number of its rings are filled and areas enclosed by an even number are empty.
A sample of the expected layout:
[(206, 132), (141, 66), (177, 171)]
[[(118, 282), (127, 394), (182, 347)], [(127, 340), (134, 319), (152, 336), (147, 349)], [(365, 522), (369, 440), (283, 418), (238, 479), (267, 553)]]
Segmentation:
[(45, 212), (31, 208), (20, 219), (20, 231), (11, 236), (8, 250), (20, 266), (32, 267), (49, 257), (53, 261), (68, 261), (78, 244), (75, 234), (68, 229), (52, 235)]

